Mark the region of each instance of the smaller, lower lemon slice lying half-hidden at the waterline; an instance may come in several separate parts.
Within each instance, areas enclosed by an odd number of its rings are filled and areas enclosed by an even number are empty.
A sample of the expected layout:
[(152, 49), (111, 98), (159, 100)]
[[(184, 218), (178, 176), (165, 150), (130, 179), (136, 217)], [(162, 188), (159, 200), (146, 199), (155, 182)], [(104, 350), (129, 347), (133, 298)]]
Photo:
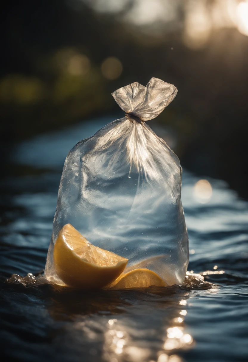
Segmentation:
[(166, 286), (166, 283), (152, 270), (134, 269), (128, 273), (121, 274), (108, 288), (125, 289), (149, 287), (151, 285)]

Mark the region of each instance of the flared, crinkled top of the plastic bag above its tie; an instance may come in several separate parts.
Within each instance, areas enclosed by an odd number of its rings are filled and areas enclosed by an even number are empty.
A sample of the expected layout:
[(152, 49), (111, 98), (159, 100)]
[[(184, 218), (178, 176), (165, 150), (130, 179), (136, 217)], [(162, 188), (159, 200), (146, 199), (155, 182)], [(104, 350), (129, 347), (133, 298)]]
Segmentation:
[(152, 78), (146, 87), (135, 82), (112, 93), (130, 122), (143, 124), (157, 117), (177, 95), (177, 88), (161, 79)]

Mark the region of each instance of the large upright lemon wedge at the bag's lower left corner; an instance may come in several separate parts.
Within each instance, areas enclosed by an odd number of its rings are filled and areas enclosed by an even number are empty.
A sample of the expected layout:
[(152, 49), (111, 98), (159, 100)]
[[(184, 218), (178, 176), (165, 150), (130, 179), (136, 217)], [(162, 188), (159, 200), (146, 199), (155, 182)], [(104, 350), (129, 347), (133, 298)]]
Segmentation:
[(95, 247), (66, 224), (55, 242), (53, 261), (58, 277), (68, 286), (99, 289), (119, 277), (128, 259)]

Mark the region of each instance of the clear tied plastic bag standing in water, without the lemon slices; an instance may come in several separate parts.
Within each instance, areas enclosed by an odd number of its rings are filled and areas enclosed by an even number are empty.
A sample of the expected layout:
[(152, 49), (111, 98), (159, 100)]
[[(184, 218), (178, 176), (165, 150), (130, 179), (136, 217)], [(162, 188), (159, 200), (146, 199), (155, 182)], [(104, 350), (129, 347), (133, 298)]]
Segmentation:
[[(148, 268), (167, 285), (182, 284), (189, 262), (178, 157), (145, 121), (174, 99), (177, 88), (152, 78), (112, 93), (125, 117), (79, 141), (68, 153), (58, 191), (45, 278), (63, 285), (54, 243), (70, 223), (90, 243)], [(125, 270), (125, 271), (126, 271)]]

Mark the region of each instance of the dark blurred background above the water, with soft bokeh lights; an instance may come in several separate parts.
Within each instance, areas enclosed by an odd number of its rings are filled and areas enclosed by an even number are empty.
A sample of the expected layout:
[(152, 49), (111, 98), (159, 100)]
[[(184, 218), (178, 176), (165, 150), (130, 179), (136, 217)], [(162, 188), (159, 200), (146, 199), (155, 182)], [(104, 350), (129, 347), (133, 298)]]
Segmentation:
[(113, 121), (111, 92), (158, 77), (178, 95), (148, 124), (183, 167), (248, 197), (247, 1), (9, 0), (0, 26), (5, 174), (29, 172), (8, 160), (16, 143)]

